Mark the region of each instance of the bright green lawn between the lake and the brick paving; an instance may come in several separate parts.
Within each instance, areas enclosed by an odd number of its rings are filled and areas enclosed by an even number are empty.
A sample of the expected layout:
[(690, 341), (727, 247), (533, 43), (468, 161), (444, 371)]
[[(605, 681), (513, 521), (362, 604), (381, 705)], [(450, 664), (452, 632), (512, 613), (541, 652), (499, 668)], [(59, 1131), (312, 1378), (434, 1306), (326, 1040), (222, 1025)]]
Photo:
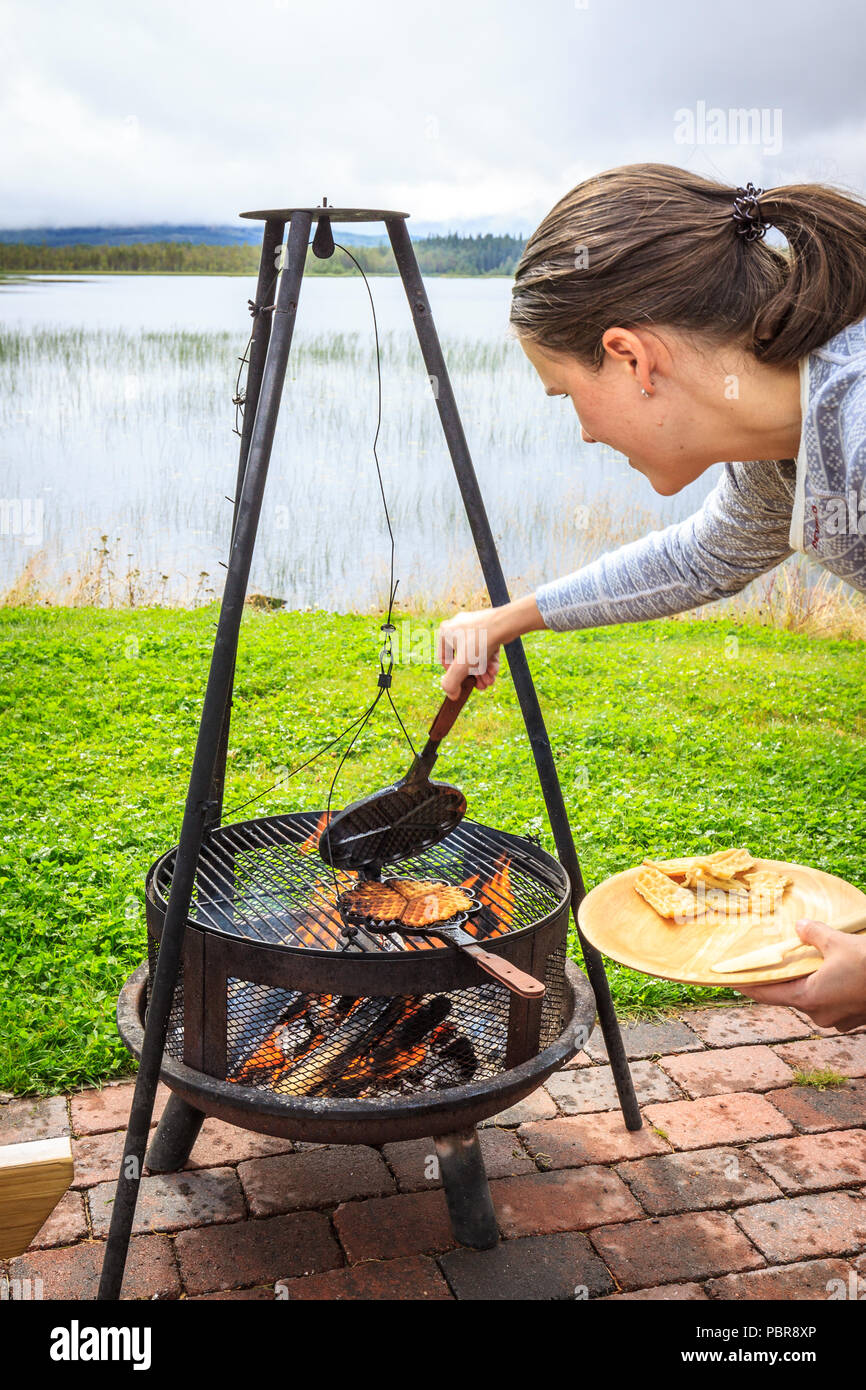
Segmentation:
[[(214, 617), (0, 610), (0, 1090), (132, 1070), (114, 1004), (145, 952), (145, 872), (177, 841)], [(416, 637), (425, 627), (413, 619)], [(589, 885), (646, 853), (745, 842), (866, 887), (862, 644), (701, 621), (527, 645)], [(245, 614), (228, 809), (363, 709), (377, 652), (378, 619)], [(420, 737), (438, 673), (398, 666), (393, 694)], [(327, 755), (246, 815), (322, 806), (335, 766)], [(346, 763), (338, 803), (406, 766), (382, 712)], [(470, 701), (441, 769), (467, 788), (471, 816), (552, 848), (507, 676)], [(610, 980), (632, 1015), (726, 997), (613, 965)]]

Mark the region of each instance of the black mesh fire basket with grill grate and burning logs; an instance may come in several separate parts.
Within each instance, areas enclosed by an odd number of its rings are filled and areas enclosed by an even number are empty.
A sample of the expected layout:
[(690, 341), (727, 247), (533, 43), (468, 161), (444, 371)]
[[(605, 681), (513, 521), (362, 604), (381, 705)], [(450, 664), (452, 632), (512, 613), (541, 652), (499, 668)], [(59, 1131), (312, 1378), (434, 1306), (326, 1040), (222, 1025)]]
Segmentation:
[[(471, 910), (423, 927), (430, 935), (395, 923), (384, 931), (341, 912), (338, 899), (360, 880), (322, 862), (325, 826), (318, 810), (295, 812), (209, 835), (170, 1056), (234, 1093), (350, 1102), (478, 1084), (557, 1036), (569, 895), (550, 856), (464, 820), (436, 847), (382, 866), (382, 880), (396, 872), (460, 888)], [(172, 872), (174, 851), (149, 876), (152, 973)], [(468, 945), (436, 937), (455, 926)], [(470, 952), (493, 941), (500, 969), (488, 973)], [(514, 994), (521, 972), (545, 986), (541, 1008)]]

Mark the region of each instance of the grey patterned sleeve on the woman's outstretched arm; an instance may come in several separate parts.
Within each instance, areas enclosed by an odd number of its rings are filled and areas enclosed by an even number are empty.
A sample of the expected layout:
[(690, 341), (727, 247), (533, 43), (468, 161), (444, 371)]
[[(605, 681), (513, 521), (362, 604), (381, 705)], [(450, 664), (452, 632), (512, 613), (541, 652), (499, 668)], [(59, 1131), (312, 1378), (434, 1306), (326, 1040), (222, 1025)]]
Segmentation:
[(562, 632), (639, 623), (740, 592), (792, 553), (795, 477), (794, 460), (727, 463), (685, 521), (537, 589), (545, 624)]

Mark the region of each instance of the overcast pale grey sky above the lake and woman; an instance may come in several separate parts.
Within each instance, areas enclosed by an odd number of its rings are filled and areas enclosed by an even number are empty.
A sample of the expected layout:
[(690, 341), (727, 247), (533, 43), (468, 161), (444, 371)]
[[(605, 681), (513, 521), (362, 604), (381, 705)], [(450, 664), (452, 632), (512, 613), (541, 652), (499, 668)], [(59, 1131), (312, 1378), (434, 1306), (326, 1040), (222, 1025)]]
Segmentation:
[[(862, 0), (0, 0), (0, 18), (7, 228), (222, 224), (324, 193), (527, 231), (635, 160), (866, 190)], [(737, 108), (765, 113), (763, 139)]]

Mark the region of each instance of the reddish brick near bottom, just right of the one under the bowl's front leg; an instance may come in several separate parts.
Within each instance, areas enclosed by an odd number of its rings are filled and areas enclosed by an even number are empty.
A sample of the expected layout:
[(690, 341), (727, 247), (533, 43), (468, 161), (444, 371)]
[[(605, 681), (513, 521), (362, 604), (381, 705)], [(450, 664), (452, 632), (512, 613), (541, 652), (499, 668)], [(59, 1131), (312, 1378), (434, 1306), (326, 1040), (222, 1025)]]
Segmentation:
[(589, 1240), (623, 1290), (688, 1283), (763, 1264), (727, 1212), (599, 1226)]

